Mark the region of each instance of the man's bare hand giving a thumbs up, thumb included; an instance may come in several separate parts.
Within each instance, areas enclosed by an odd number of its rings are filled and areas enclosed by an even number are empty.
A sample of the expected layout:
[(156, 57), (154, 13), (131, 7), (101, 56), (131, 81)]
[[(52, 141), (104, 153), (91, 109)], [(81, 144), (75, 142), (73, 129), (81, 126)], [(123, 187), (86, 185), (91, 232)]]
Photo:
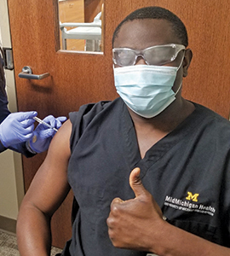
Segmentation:
[(140, 168), (135, 168), (129, 176), (135, 198), (115, 198), (106, 222), (114, 247), (151, 251), (153, 234), (163, 219), (158, 204), (141, 182), (140, 172)]

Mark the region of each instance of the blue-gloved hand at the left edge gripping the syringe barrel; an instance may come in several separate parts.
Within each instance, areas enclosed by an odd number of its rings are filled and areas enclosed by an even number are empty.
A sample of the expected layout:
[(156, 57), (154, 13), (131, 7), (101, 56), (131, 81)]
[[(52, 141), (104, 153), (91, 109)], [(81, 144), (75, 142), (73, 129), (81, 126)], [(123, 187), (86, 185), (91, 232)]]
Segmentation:
[(5, 148), (26, 142), (32, 137), (34, 129), (33, 117), (37, 116), (36, 111), (10, 113), (0, 125), (0, 140)]

